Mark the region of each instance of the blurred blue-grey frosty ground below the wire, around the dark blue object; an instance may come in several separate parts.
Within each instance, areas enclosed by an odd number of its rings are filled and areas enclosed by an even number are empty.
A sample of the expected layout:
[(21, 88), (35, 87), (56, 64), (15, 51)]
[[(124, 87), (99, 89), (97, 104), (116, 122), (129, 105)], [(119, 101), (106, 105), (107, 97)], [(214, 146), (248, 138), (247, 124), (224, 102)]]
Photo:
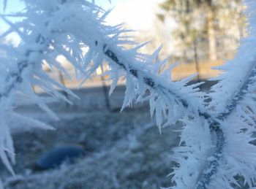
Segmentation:
[[(40, 131), (25, 128), (12, 131), (17, 164), (16, 177), (1, 165), (5, 188), (159, 188), (170, 186), (171, 148), (176, 147), (178, 132), (163, 129), (159, 134), (147, 104), (138, 104), (120, 113), (124, 87), (110, 98), (105, 107), (102, 88), (75, 91), (80, 100), (73, 106), (51, 104), (61, 120), (51, 120), (37, 107), (17, 109), (56, 128)], [(21, 126), (22, 127), (22, 126)], [(75, 163), (56, 169), (35, 171), (34, 163), (43, 153), (61, 144), (83, 144), (86, 155)]]

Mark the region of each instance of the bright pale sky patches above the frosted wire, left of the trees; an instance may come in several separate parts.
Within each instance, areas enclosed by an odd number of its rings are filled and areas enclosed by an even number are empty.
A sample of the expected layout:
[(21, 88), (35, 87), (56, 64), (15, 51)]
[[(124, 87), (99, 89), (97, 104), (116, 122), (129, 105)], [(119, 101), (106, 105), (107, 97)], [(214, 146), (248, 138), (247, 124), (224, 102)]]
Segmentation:
[[(126, 23), (127, 28), (136, 31), (147, 31), (153, 27), (156, 9), (162, 0), (95, 0), (96, 4), (104, 9), (111, 9), (107, 19), (110, 25)], [(20, 0), (8, 0), (6, 13), (16, 12), (23, 9), (23, 3)], [(0, 12), (3, 12), (3, 4), (0, 3)], [(0, 19), (0, 31), (7, 29), (7, 25)], [(10, 36), (18, 41), (15, 35)]]

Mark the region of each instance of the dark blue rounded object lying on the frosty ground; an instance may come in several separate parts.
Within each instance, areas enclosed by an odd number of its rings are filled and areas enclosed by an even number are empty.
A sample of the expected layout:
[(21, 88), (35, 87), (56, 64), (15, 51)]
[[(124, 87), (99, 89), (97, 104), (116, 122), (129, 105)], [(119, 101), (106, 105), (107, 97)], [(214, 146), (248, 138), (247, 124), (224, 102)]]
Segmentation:
[(80, 145), (64, 145), (61, 147), (55, 147), (42, 155), (37, 161), (37, 168), (39, 169), (51, 169), (56, 166), (60, 166), (65, 161), (73, 161), (75, 158), (79, 158), (84, 155), (85, 150)]

